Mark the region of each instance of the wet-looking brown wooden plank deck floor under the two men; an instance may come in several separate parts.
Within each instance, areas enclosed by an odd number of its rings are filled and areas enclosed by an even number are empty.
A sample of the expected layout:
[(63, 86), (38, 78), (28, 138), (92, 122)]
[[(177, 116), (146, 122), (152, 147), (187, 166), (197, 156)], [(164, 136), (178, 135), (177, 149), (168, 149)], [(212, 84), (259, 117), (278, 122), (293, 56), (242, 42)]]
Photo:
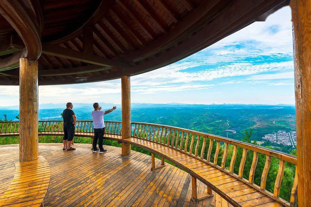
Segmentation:
[[(90, 144), (75, 144), (63, 151), (62, 144), (39, 144), (51, 168), (45, 206), (231, 206), (214, 193), (194, 203), (191, 177), (166, 163), (151, 171), (151, 156), (132, 151), (120, 156), (121, 148), (105, 146), (107, 153), (92, 153)], [(0, 145), (0, 195), (14, 177), (18, 145)], [(156, 159), (156, 164), (160, 160)], [(206, 186), (198, 182), (199, 193)]]

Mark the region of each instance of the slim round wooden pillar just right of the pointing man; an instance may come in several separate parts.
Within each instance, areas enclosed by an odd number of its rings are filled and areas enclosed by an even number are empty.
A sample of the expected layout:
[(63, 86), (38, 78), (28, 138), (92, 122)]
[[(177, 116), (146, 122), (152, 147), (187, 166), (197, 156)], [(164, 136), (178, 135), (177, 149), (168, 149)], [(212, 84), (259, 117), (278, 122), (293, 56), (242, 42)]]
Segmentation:
[[(131, 138), (131, 84), (130, 77), (123, 76), (121, 78), (121, 134), (122, 139)], [(131, 153), (131, 145), (122, 142), (122, 155)]]

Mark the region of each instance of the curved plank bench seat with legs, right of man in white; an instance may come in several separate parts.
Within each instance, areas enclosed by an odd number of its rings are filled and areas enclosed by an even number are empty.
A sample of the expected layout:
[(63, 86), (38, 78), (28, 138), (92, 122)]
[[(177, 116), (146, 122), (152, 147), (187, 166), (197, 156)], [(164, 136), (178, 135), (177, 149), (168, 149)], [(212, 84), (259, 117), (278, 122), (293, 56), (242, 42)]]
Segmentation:
[[(122, 140), (119, 135), (105, 135), (105, 138), (126, 142), (149, 150), (151, 153), (158, 154), (185, 170), (192, 176), (193, 200), (197, 201), (209, 197), (206, 194), (197, 195), (195, 188), (197, 178), (234, 206), (284, 206), (230, 174), (168, 146), (134, 137)], [(157, 168), (154, 166), (154, 161), (152, 165), (154, 168)]]

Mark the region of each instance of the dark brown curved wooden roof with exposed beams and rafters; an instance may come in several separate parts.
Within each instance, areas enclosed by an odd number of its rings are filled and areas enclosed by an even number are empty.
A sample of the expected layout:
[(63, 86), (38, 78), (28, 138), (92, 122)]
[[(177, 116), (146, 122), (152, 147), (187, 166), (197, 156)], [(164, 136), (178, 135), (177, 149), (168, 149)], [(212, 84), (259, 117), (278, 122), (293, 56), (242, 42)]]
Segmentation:
[(0, 85), (39, 59), (39, 85), (95, 82), (185, 58), (288, 0), (2, 0)]

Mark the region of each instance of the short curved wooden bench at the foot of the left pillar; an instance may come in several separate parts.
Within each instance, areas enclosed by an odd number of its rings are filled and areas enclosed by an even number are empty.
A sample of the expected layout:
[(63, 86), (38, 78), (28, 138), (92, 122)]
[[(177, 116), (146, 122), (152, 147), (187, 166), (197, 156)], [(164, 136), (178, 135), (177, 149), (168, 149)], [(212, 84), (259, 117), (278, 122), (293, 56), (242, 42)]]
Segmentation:
[(30, 162), (14, 164), (14, 178), (0, 196), (0, 206), (43, 206), (51, 176), (49, 163), (39, 156)]

